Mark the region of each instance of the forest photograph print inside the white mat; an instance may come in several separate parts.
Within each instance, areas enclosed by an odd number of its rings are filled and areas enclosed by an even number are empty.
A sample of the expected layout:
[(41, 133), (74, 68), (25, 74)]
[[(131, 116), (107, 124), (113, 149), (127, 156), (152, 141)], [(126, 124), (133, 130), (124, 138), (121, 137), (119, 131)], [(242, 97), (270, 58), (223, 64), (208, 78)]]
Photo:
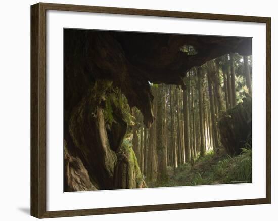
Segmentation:
[(252, 38), (64, 29), (64, 192), (252, 183)]

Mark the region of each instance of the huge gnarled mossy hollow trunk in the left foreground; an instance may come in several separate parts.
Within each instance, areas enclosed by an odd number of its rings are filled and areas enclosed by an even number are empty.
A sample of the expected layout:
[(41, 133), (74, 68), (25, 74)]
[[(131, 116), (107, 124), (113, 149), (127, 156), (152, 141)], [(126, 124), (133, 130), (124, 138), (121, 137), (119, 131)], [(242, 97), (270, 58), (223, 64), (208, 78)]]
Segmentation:
[[(136, 157), (132, 150), (131, 140), (129, 142), (131, 150), (128, 150), (127, 154), (121, 152), (127, 123), (124, 120), (121, 105), (118, 103), (119, 96), (122, 96), (119, 91), (111, 90), (111, 82), (97, 81), (71, 112), (68, 123), (70, 137), (65, 136), (68, 155), (75, 157), (68, 157), (65, 151), (65, 158), (69, 162), (70, 160), (78, 162), (78, 158), (80, 158), (90, 181), (94, 181), (94, 187), (99, 190), (134, 188), (145, 185), (140, 170), (132, 169), (136, 164)], [(65, 135), (67, 135), (66, 132)], [(122, 155), (125, 155), (127, 163), (123, 163)], [(79, 171), (85, 174), (82, 164), (78, 163), (78, 165)], [(121, 171), (117, 176), (115, 176), (116, 170)], [(75, 174), (80, 172), (75, 170)], [(71, 174), (73, 173), (71, 172)], [(138, 185), (134, 186), (133, 181), (121, 182), (120, 180), (125, 179), (125, 174), (136, 178)], [(78, 190), (72, 186), (69, 186), (69, 189)]]

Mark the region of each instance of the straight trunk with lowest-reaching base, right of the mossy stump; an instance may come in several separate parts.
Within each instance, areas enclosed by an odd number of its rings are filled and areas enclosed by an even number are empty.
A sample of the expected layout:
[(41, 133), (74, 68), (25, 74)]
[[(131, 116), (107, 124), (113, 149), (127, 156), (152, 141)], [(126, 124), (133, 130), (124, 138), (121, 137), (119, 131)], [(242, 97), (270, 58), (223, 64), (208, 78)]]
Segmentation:
[(167, 165), (166, 165), (166, 147), (163, 142), (163, 137), (165, 134), (165, 128), (163, 127), (163, 86), (158, 85), (158, 103), (157, 103), (157, 184), (161, 186), (163, 183), (167, 182)]

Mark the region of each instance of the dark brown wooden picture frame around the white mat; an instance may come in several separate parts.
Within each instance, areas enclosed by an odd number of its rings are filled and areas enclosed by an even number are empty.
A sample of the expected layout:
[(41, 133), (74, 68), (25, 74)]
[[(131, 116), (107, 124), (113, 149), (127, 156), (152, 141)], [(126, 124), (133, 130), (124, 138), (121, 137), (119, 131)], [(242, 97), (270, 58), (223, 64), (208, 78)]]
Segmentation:
[[(142, 205), (114, 208), (47, 211), (47, 79), (46, 79), (46, 36), (47, 10), (145, 15), (176, 18), (194, 18), (222, 21), (256, 22), (266, 24), (266, 197), (258, 199), (225, 200), (161, 205)], [(97, 215), (126, 212), (146, 212), (190, 208), (267, 204), (271, 202), (271, 83), (270, 83), (270, 28), (268, 17), (221, 15), (192, 12), (159, 11), (99, 6), (81, 6), (38, 3), (31, 6), (31, 215), (37, 218)]]

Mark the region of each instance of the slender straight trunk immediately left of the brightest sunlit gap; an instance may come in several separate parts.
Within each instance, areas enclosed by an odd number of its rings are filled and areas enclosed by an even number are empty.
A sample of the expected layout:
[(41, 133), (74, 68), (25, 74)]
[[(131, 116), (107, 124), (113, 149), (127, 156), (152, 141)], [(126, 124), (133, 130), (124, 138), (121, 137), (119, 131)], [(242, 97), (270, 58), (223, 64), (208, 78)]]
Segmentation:
[(203, 114), (203, 93), (202, 93), (202, 78), (203, 73), (201, 67), (197, 68), (197, 76), (198, 76), (198, 96), (199, 96), (199, 124), (200, 124), (200, 152), (201, 157), (206, 155), (206, 147), (205, 147), (205, 135), (204, 135), (204, 114)]

